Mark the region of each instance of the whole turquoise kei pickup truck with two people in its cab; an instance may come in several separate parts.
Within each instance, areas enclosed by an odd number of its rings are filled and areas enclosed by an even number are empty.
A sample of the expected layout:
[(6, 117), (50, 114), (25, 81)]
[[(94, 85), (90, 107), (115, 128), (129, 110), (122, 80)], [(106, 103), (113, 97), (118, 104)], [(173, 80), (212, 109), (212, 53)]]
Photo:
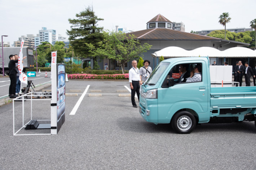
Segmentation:
[[(202, 66), (202, 80), (178, 83), (180, 65)], [(208, 57), (179, 57), (160, 62), (140, 88), (139, 112), (155, 124), (170, 123), (190, 133), (198, 123), (256, 122), (256, 86), (211, 87)], [(256, 126), (256, 123), (255, 123)]]

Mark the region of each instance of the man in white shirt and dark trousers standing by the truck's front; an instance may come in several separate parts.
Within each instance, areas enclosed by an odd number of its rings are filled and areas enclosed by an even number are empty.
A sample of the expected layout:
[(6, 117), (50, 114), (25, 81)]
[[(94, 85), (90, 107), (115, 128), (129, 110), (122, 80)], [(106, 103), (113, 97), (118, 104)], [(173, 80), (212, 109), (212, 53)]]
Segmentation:
[(129, 70), (129, 82), (131, 87), (132, 106), (134, 108), (137, 108), (138, 106), (136, 105), (134, 96), (135, 93), (137, 93), (138, 100), (140, 102), (140, 85), (142, 84), (142, 82), (140, 80), (140, 72), (139, 69), (137, 68), (136, 60), (132, 61), (132, 68)]

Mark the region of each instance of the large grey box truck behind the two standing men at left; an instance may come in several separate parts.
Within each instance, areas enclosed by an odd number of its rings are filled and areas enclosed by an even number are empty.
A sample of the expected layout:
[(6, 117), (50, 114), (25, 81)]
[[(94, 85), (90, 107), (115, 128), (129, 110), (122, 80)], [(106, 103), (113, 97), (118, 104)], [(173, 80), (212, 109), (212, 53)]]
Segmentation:
[[(3, 47), (4, 49), (4, 75), (8, 75), (9, 74), (9, 56), (12, 55), (19, 55), (19, 51), (21, 49), (21, 47)], [(0, 48), (0, 73), (3, 74), (3, 56), (2, 56), (3, 52), (2, 52), (2, 47)], [(25, 72), (25, 70), (27, 68), (33, 68), (34, 67), (34, 55), (33, 55), (33, 49), (30, 47), (23, 47), (22, 49), (22, 54), (23, 57), (27, 56), (26, 59), (23, 60), (23, 66), (24, 66), (24, 70), (23, 72)]]

